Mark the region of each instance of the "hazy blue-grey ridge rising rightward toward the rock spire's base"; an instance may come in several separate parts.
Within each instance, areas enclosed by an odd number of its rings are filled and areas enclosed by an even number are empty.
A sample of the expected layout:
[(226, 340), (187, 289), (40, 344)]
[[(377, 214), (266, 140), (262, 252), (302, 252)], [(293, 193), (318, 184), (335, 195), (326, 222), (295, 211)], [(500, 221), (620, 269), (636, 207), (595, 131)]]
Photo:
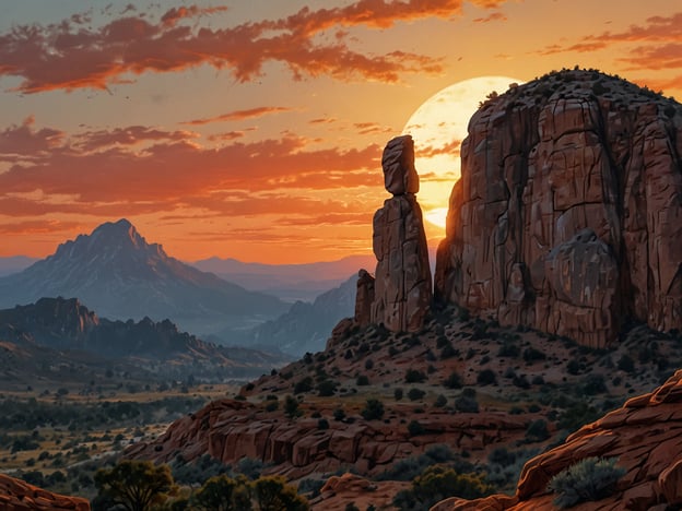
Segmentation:
[(296, 301), (279, 318), (255, 326), (243, 336), (233, 334), (232, 343), (295, 356), (321, 352), (334, 325), (353, 316), (356, 282), (357, 276), (353, 275), (339, 287), (319, 295), (313, 304)]

